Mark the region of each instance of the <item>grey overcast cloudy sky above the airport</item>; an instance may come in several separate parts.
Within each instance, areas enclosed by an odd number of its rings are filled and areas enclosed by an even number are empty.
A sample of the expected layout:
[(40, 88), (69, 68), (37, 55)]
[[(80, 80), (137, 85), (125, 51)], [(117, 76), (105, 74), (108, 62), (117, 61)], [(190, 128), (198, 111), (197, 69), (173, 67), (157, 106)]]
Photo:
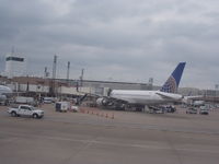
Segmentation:
[(27, 73), (162, 84), (186, 61), (181, 86), (219, 83), (218, 0), (0, 0), (0, 72), (12, 46)]

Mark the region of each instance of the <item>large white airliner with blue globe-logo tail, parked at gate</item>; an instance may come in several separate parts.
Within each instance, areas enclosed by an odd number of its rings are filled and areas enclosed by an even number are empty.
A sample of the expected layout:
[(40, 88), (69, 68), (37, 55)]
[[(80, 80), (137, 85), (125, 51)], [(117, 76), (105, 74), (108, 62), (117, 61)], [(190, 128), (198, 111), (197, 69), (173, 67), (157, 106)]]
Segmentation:
[(99, 106), (115, 104), (140, 105), (148, 108), (160, 104), (182, 102), (183, 95), (176, 94), (177, 87), (186, 62), (180, 62), (160, 91), (139, 91), (139, 90), (112, 90), (107, 96), (99, 97)]

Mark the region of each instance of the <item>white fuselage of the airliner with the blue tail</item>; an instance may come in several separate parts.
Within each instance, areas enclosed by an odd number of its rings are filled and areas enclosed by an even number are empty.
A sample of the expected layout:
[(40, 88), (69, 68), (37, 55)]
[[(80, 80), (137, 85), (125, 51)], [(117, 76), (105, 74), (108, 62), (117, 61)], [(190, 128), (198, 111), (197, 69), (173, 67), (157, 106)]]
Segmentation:
[(128, 102), (129, 104), (157, 105), (182, 99), (182, 95), (161, 91), (113, 90), (111, 97)]

